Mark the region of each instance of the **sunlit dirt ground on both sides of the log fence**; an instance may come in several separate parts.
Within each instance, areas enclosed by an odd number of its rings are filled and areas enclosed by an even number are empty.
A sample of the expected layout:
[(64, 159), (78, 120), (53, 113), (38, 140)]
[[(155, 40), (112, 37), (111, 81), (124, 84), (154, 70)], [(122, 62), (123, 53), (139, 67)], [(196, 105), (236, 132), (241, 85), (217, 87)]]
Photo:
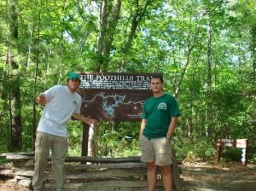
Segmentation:
[[(256, 165), (183, 164), (183, 191), (256, 191)], [(28, 191), (0, 180), (1, 191)]]

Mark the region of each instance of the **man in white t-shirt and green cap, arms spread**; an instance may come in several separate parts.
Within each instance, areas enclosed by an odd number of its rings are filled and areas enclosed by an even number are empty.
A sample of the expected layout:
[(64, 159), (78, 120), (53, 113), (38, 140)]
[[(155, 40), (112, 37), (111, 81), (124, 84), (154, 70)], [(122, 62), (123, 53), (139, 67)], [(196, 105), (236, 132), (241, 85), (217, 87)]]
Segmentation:
[(38, 103), (45, 104), (45, 107), (38, 124), (35, 142), (35, 170), (32, 182), (35, 191), (42, 190), (49, 149), (51, 149), (55, 190), (62, 190), (65, 181), (64, 162), (67, 155), (67, 121), (73, 116), (86, 124), (96, 123), (95, 119), (85, 118), (80, 114), (82, 99), (76, 92), (79, 84), (79, 74), (70, 72), (67, 85), (55, 85), (37, 97)]

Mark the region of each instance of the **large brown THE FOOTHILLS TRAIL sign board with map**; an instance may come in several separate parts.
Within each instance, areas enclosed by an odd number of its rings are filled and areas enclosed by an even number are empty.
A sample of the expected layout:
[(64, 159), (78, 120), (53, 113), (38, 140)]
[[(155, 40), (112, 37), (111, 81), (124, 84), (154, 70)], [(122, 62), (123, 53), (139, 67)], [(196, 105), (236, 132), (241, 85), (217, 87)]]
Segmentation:
[[(81, 113), (103, 121), (140, 121), (155, 73), (81, 72)], [(159, 75), (159, 74), (158, 74)]]

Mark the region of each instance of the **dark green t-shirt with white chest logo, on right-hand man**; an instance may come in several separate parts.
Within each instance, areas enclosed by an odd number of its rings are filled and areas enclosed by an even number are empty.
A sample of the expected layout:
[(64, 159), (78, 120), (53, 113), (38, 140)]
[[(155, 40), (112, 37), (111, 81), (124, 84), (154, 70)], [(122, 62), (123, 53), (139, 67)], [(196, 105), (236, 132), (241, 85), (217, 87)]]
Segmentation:
[(173, 96), (164, 94), (160, 97), (150, 97), (143, 107), (142, 117), (147, 119), (143, 136), (148, 138), (166, 136), (171, 118), (179, 115), (177, 101)]

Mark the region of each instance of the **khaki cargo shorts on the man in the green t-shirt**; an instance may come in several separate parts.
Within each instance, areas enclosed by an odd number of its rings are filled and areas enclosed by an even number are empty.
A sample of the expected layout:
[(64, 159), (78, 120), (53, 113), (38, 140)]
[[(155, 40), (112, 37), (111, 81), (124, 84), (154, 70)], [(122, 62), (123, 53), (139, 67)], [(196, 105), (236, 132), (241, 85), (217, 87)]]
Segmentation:
[(142, 162), (154, 162), (155, 165), (160, 166), (172, 164), (172, 139), (170, 140), (166, 137), (148, 139), (142, 135), (139, 140), (142, 150)]

